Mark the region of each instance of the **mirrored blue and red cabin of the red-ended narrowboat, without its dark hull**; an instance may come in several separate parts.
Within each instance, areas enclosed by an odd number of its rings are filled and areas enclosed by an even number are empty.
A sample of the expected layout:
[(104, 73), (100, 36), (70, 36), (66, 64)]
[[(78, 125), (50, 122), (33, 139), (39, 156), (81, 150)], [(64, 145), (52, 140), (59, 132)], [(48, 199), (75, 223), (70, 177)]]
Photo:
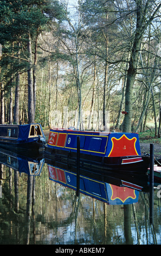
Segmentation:
[[(76, 191), (76, 173), (50, 164), (48, 164), (48, 172), (50, 180)], [(137, 188), (135, 189), (131, 186), (132, 184), (129, 183), (127, 186), (109, 184), (101, 179), (95, 179), (94, 173), (93, 177), (89, 177), (87, 173), (80, 175), (80, 193), (109, 205), (137, 203), (142, 188), (133, 185)]]

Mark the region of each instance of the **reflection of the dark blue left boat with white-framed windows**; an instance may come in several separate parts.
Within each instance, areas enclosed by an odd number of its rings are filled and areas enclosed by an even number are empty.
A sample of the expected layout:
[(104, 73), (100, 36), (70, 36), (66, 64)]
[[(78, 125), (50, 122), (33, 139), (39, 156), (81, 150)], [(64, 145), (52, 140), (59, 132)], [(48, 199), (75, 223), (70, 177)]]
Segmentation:
[(8, 150), (0, 149), (0, 163), (20, 173), (40, 175), (44, 159), (42, 156), (28, 157)]

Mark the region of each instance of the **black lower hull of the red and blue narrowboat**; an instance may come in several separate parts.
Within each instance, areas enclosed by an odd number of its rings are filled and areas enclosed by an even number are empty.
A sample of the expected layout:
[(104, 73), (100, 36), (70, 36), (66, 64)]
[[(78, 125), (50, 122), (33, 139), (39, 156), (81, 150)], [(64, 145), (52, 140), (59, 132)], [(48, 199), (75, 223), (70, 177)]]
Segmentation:
[[(77, 164), (77, 153), (67, 150), (51, 149), (46, 147), (45, 157), (51, 160)], [(149, 156), (122, 156), (101, 157), (80, 154), (79, 164), (102, 170), (113, 170), (115, 172), (147, 172), (149, 167)]]

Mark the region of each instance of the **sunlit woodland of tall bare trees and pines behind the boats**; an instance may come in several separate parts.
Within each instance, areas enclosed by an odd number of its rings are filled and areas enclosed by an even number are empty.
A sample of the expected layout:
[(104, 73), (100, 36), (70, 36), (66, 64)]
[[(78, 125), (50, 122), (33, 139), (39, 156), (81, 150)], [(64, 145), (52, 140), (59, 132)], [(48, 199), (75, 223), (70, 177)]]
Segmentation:
[(81, 129), (138, 132), (152, 123), (160, 137), (160, 8), (158, 0), (0, 1), (1, 124), (62, 127), (66, 118)]

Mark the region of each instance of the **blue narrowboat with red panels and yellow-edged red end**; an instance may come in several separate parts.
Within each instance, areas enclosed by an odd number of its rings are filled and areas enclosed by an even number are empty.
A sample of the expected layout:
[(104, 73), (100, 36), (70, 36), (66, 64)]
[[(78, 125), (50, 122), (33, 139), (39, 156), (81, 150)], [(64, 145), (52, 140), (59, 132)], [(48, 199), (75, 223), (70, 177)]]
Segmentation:
[(99, 165), (104, 170), (147, 172), (149, 157), (141, 156), (138, 133), (50, 129), (47, 157), (75, 161), (78, 136), (80, 164)]

